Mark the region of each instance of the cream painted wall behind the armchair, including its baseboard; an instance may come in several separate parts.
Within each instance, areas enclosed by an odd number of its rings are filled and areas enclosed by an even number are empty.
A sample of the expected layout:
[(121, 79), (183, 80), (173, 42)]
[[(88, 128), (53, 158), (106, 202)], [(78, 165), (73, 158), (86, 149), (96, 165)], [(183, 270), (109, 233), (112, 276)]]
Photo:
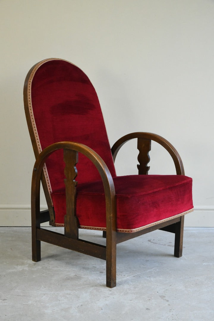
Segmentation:
[[(176, 147), (193, 177), (196, 211), (185, 225), (214, 226), (213, 33), (213, 0), (0, 1), (0, 225), (30, 225), (23, 83), (32, 65), (60, 57), (94, 84), (111, 145), (150, 131)], [(118, 155), (118, 174), (137, 173), (133, 143)], [(152, 147), (150, 174), (174, 174), (166, 152)]]

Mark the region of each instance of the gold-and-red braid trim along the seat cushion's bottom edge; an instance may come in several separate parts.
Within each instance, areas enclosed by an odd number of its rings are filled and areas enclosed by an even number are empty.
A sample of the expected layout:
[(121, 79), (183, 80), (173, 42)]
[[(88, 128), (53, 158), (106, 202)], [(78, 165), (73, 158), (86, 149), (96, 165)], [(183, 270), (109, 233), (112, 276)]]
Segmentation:
[[(147, 225), (144, 225), (144, 226), (141, 226), (137, 229), (131, 229), (131, 230), (123, 230), (123, 229), (117, 229), (117, 232), (121, 232), (121, 233), (134, 233), (134, 232), (138, 232), (138, 231), (141, 231), (141, 230), (145, 230), (149, 227), (152, 227), (152, 226), (155, 226), (159, 223), (163, 223), (163, 222), (167, 222), (167, 221), (170, 221), (172, 219), (176, 219), (177, 217), (180, 217), (180, 216), (183, 216), (185, 214), (188, 214), (188, 213), (191, 213), (194, 211), (194, 208), (192, 208), (191, 210), (189, 211), (186, 211), (186, 212), (183, 212), (183, 213), (180, 213), (178, 215), (175, 215), (175, 216), (171, 216), (171, 217), (167, 217), (166, 219), (164, 220), (160, 220), (160, 221), (157, 221), (157, 222), (154, 222), (154, 223), (151, 223), (151, 224), (147, 224)], [(64, 224), (59, 224), (59, 223), (56, 223), (55, 224), (56, 226), (64, 226)], [(84, 225), (80, 225), (79, 226), (80, 229), (84, 229), (84, 230), (98, 230), (98, 231), (106, 231), (106, 227), (93, 227), (93, 226), (84, 226)]]

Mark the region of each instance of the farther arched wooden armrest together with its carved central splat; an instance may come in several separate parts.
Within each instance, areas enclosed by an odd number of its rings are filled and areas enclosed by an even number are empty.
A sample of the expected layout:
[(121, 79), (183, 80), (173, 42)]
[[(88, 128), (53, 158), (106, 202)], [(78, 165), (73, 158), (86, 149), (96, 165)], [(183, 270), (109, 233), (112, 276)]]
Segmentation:
[[(145, 163), (144, 165), (146, 166), (147, 163), (149, 162), (149, 160), (150, 160), (149, 151), (151, 148), (150, 147), (151, 140), (153, 140), (154, 142), (157, 142), (160, 145), (162, 145), (169, 152), (169, 154), (171, 155), (171, 157), (174, 161), (174, 164), (175, 164), (176, 174), (177, 175), (184, 175), (183, 162), (181, 160), (180, 155), (176, 151), (175, 147), (172, 144), (170, 144), (165, 138), (163, 138), (157, 134), (153, 134), (153, 133), (136, 132), (136, 133), (127, 134), (127, 135), (121, 137), (120, 139), (118, 139), (118, 141), (116, 141), (116, 143), (111, 148), (111, 152), (112, 152), (114, 161), (115, 161), (118, 151), (124, 145), (124, 143), (128, 142), (129, 140), (131, 140), (133, 138), (138, 138), (138, 149), (140, 151), (139, 156), (138, 156), (139, 162), (141, 160), (142, 153), (144, 152), (144, 154), (145, 154), (145, 151), (146, 151), (147, 161), (146, 161), (146, 163), (144, 162)], [(145, 156), (144, 156), (144, 160), (145, 160)], [(140, 166), (141, 166), (141, 164), (138, 165), (138, 169)], [(146, 171), (144, 170), (144, 172), (141, 172), (140, 174), (147, 174), (148, 170), (149, 170), (149, 167), (147, 167)], [(140, 171), (140, 169), (139, 169), (139, 171)]]

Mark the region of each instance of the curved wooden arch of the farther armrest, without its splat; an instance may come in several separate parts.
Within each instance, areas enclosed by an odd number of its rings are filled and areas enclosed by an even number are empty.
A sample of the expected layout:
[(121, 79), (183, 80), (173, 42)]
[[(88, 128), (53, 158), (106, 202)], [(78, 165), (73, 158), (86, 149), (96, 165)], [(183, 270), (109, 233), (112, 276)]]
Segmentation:
[(150, 139), (162, 145), (169, 152), (169, 154), (171, 155), (174, 161), (176, 174), (184, 175), (183, 162), (181, 160), (180, 155), (176, 151), (175, 147), (172, 144), (170, 144), (165, 138), (153, 133), (136, 132), (136, 133), (127, 134), (121, 137), (120, 139), (118, 139), (118, 141), (116, 141), (116, 143), (114, 143), (114, 145), (111, 148), (111, 152), (114, 160), (116, 159), (116, 155), (119, 152), (120, 148), (130, 139), (134, 139), (134, 138)]

